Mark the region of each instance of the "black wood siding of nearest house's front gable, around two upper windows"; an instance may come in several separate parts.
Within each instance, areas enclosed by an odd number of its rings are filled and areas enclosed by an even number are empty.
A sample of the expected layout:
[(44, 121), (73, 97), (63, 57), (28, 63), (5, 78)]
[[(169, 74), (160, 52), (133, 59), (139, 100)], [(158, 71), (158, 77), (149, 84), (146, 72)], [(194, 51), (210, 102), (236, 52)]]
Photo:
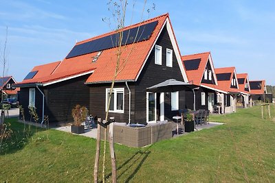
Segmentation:
[[(162, 46), (162, 65), (155, 64), (155, 47), (153, 48), (140, 77), (135, 83), (135, 122), (146, 122), (146, 88), (164, 82), (168, 79), (175, 79), (184, 81), (179, 64), (175, 56), (175, 50), (173, 50), (172, 43), (168, 36), (166, 27), (164, 27), (160, 34), (156, 45)], [(173, 50), (173, 67), (166, 66), (166, 48)], [(169, 94), (170, 95), (170, 94)], [(179, 109), (185, 107), (185, 92), (179, 92)], [(175, 111), (171, 110), (170, 97), (164, 97), (165, 100), (165, 118), (170, 119)]]

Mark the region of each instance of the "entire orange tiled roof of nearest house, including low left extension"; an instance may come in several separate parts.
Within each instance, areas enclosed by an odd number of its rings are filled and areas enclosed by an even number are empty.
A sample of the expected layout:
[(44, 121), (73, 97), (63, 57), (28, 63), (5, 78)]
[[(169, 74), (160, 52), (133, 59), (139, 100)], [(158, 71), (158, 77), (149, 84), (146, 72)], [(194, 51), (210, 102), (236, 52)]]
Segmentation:
[[(131, 29), (133, 27), (151, 23), (153, 21), (158, 21), (153, 33), (151, 34), (151, 37), (148, 40), (142, 40), (140, 42), (135, 42), (135, 44), (122, 46), (123, 51), (121, 55), (121, 61), (127, 61), (125, 64), (122, 63), (120, 65), (120, 68), (123, 69), (116, 77), (116, 80), (135, 80), (138, 73), (140, 73), (146, 57), (148, 56), (148, 53), (150, 52), (151, 47), (153, 46), (153, 43), (155, 42), (166, 19), (168, 19), (168, 14), (163, 14), (153, 19), (143, 21), (142, 23), (130, 25), (123, 29)], [(117, 32), (102, 34), (94, 38), (77, 42), (76, 45), (115, 33)], [(41, 66), (35, 66), (32, 71), (39, 72), (36, 73), (36, 75), (31, 80), (23, 80), (23, 82), (19, 84), (52, 82), (54, 80), (60, 80), (61, 78), (70, 77), (72, 75), (86, 73), (88, 71), (94, 71), (94, 73), (87, 79), (87, 83), (109, 82), (113, 79), (117, 51), (117, 48), (103, 50), (96, 62), (92, 62), (92, 60), (98, 51), (94, 53), (88, 53), (83, 56), (76, 56), (74, 58), (65, 58), (62, 62), (58, 61)], [(131, 55), (129, 53), (131, 53)]]

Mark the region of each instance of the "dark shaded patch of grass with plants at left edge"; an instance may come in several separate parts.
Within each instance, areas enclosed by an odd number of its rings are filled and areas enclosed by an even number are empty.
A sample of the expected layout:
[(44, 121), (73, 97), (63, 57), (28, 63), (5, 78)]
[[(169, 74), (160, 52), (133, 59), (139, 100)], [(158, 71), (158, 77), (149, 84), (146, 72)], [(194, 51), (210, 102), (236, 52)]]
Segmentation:
[(34, 134), (45, 131), (41, 127), (19, 123), (16, 118), (6, 119), (5, 124), (9, 124), (7, 130), (10, 130), (11, 133), (8, 138), (3, 138), (0, 144), (0, 155), (16, 153), (30, 143)]

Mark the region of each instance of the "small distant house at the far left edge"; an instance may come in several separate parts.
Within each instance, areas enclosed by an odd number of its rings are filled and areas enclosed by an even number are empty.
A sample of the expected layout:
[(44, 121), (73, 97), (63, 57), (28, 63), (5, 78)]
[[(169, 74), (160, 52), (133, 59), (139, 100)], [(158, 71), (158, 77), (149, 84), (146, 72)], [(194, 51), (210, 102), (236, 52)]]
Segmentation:
[(16, 84), (12, 76), (0, 77), (0, 90), (6, 98), (16, 98), (19, 88), (14, 88), (12, 84)]

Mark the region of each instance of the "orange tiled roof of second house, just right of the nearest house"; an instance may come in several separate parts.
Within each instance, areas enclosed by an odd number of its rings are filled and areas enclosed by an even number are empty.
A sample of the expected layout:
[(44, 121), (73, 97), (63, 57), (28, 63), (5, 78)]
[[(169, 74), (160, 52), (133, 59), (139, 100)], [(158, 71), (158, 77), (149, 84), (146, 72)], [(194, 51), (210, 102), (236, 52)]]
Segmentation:
[(193, 59), (201, 59), (199, 63), (199, 67), (197, 70), (186, 71), (188, 81), (192, 81), (193, 84), (201, 85), (201, 80), (203, 77), (204, 69), (206, 69), (206, 64), (208, 61), (208, 57), (210, 55), (210, 51), (205, 53), (196, 53), (188, 56), (181, 56), (182, 64), (184, 64), (185, 60), (193, 60)]

